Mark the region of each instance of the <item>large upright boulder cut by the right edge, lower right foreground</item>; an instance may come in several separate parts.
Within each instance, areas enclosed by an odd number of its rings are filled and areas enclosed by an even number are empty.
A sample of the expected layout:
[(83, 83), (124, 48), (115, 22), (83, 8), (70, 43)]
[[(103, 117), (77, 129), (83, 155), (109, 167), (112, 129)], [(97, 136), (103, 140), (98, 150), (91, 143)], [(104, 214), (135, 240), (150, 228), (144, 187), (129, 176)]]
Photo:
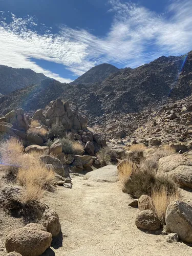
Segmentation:
[(165, 215), (167, 228), (177, 233), (179, 238), (192, 243), (192, 206), (182, 202), (175, 201), (168, 205)]

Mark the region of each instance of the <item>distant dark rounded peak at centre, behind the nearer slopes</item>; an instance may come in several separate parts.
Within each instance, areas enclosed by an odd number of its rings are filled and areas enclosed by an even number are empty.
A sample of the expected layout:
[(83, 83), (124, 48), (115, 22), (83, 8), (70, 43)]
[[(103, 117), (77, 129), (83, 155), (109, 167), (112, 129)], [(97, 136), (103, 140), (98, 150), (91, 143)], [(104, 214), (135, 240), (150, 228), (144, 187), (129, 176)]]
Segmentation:
[(95, 82), (102, 82), (105, 78), (109, 77), (112, 73), (119, 71), (115, 66), (102, 63), (91, 68), (88, 72), (84, 73), (82, 76), (79, 76), (76, 80), (70, 84), (90, 84)]

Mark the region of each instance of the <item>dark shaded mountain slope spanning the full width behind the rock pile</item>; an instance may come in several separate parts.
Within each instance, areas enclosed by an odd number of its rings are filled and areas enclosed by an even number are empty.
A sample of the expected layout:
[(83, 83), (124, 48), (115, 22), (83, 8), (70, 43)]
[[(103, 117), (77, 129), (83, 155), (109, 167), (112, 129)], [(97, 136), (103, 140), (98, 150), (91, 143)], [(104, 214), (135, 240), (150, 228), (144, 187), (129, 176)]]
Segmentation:
[(187, 57), (162, 56), (135, 69), (118, 70), (101, 82), (89, 83), (89, 71), (83, 78), (88, 83), (47, 79), (1, 97), (0, 109), (2, 115), (15, 108), (34, 113), (50, 100), (60, 98), (78, 105), (81, 114), (89, 117), (89, 125), (98, 124), (111, 132), (123, 126), (126, 133), (131, 133), (137, 129), (133, 119), (141, 116), (142, 120), (143, 111), (153, 112), (157, 106), (190, 96), (191, 66), (189, 52)]

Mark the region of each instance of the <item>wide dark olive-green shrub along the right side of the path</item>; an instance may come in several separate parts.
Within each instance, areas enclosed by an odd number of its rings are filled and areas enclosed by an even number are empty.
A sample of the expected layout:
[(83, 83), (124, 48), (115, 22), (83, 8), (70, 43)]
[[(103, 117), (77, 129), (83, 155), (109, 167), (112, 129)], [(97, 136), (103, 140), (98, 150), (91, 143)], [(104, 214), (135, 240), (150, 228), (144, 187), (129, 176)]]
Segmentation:
[(148, 170), (137, 170), (124, 181), (123, 192), (134, 198), (139, 198), (142, 195), (151, 196), (153, 189), (161, 190), (162, 188), (166, 188), (167, 193), (170, 194), (178, 189), (177, 185), (168, 177), (159, 176)]

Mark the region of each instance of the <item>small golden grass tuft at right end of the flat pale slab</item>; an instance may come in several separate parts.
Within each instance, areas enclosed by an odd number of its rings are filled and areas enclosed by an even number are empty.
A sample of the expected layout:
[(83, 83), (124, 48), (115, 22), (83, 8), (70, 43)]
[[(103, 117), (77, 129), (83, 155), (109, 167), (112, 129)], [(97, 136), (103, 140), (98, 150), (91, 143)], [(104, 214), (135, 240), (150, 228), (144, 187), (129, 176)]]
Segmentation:
[(120, 180), (124, 180), (124, 179), (129, 179), (130, 176), (133, 173), (136, 173), (138, 170), (138, 167), (136, 164), (134, 164), (131, 161), (122, 161), (119, 165), (118, 165), (118, 172), (119, 172), (119, 178)]

